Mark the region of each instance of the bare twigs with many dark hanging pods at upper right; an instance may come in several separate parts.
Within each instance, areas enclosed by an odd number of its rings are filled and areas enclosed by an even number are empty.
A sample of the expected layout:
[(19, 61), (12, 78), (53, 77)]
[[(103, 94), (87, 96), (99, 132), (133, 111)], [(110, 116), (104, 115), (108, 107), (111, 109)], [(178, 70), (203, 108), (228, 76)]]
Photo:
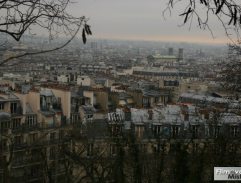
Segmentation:
[(184, 9), (180, 16), (184, 18), (183, 23), (190, 26), (197, 23), (200, 29), (212, 31), (212, 17), (223, 26), (226, 35), (233, 40), (231, 35), (235, 32), (236, 40), (240, 41), (240, 25), (241, 25), (241, 6), (238, 0), (168, 0), (167, 7), (163, 11), (165, 16), (167, 12), (171, 14), (173, 9), (178, 5), (184, 5)]

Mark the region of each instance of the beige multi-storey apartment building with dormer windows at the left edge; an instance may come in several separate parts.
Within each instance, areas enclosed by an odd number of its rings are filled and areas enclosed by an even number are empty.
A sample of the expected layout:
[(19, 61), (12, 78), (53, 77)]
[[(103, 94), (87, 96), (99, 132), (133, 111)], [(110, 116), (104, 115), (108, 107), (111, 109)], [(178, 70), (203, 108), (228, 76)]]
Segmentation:
[(64, 175), (61, 147), (70, 144), (69, 113), (54, 92), (0, 94), (1, 182), (58, 182)]

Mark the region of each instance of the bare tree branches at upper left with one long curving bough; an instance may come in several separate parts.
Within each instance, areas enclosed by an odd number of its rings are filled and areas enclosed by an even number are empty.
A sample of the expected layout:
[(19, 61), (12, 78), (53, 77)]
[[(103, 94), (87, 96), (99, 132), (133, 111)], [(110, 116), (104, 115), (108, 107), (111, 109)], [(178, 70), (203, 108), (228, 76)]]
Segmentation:
[(68, 37), (68, 40), (52, 49), (7, 58), (0, 65), (13, 58), (61, 49), (69, 44), (81, 29), (83, 42), (86, 43), (86, 35), (92, 34), (87, 24), (88, 19), (85, 16), (74, 17), (69, 14), (67, 9), (71, 3), (70, 0), (1, 0), (0, 32), (16, 41), (20, 41), (27, 32), (35, 35), (35, 30), (47, 32), (50, 40), (61, 36)]

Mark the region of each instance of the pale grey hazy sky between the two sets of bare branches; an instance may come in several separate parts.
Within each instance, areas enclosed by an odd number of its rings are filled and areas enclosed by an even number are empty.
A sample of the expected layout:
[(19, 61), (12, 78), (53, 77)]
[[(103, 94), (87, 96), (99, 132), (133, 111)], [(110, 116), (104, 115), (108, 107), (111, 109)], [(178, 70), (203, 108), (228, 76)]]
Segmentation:
[(94, 38), (140, 39), (156, 41), (185, 41), (226, 43), (227, 38), (213, 20), (212, 38), (208, 30), (199, 30), (194, 24), (180, 26), (181, 8), (177, 7), (166, 20), (162, 16), (166, 0), (75, 0), (71, 12), (90, 18)]

